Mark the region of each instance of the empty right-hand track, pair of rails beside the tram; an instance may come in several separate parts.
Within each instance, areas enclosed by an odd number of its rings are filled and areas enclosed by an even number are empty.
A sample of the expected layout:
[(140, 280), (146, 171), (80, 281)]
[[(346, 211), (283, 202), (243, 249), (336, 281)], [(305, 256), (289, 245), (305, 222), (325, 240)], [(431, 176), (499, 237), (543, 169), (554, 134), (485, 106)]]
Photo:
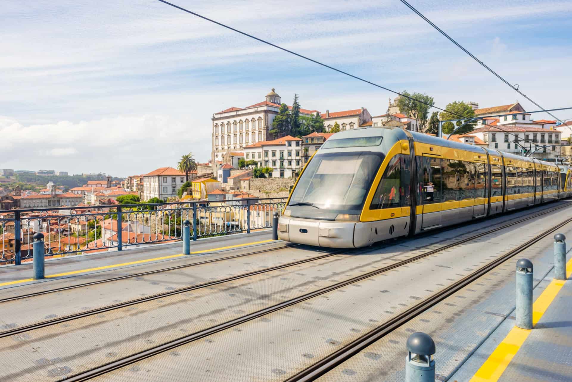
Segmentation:
[[(280, 309), (284, 309), (284, 308), (287, 308), (291, 305), (301, 303), (302, 301), (311, 299), (311, 298), (319, 296), (319, 295), (323, 295), (324, 293), (334, 291), (334, 290), (342, 288), (344, 286), (348, 286), (349, 284), (353, 284), (353, 283), (359, 282), (361, 280), (371, 278), (372, 276), (376, 276), (376, 275), (382, 274), (383, 272), (393, 270), (394, 268), (398, 268), (400, 266), (403, 266), (404, 264), (415, 262), (416, 260), (423, 259), (427, 256), (435, 255), (436, 253), (447, 250), (448, 248), (459, 246), (460, 244), (470, 242), (472, 240), (478, 239), (482, 236), (491, 234), (493, 232), (503, 230), (503, 229), (509, 228), (511, 226), (515, 226), (516, 224), (525, 222), (525, 221), (530, 220), (530, 219), (537, 218), (538, 216), (541, 216), (541, 215), (548, 214), (548, 213), (553, 212), (554, 210), (557, 210), (557, 209), (559, 209), (559, 208), (554, 208), (550, 211), (543, 211), (543, 212), (541, 212), (541, 214), (529, 216), (528, 218), (519, 220), (518, 222), (504, 224), (501, 227), (497, 227), (497, 228), (494, 228), (492, 230), (482, 232), (480, 234), (472, 235), (468, 238), (458, 240), (457, 242), (450, 243), (450, 244), (447, 244), (445, 246), (436, 248), (435, 250), (427, 251), (427, 252), (424, 252), (423, 254), (416, 255), (410, 259), (402, 260), (398, 263), (391, 264), (390, 266), (384, 266), (384, 267), (378, 268), (377, 270), (367, 272), (365, 274), (344, 280), (344, 281), (336, 283), (336, 284), (332, 284), (331, 286), (316, 289), (315, 291), (305, 293), (304, 295), (294, 297), (294, 298), (289, 299), (287, 301), (283, 301), (279, 304), (272, 305), (271, 307), (260, 309), (259, 311), (238, 317), (236, 319), (227, 321), (225, 323), (221, 323), (219, 325), (214, 325), (212, 327), (206, 328), (206, 329), (201, 330), (201, 331), (197, 331), (197, 332), (192, 333), (190, 335), (180, 337), (176, 340), (169, 341), (168, 343), (161, 344), (157, 347), (146, 349), (145, 351), (138, 352), (136, 354), (133, 354), (133, 355), (130, 355), (130, 356), (125, 357), (123, 359), (114, 361), (112, 363), (101, 365), (100, 367), (91, 369), (91, 370), (86, 371), (86, 372), (79, 373), (79, 374), (77, 374), (75, 376), (71, 376), (65, 380), (66, 381), (84, 381), (84, 380), (92, 379), (93, 377), (96, 377), (96, 376), (104, 375), (105, 373), (111, 372), (111, 371), (116, 370), (118, 368), (125, 367), (126, 365), (136, 363), (136, 362), (144, 360), (148, 357), (152, 357), (154, 355), (158, 355), (160, 353), (169, 351), (170, 349), (180, 347), (181, 345), (192, 343), (193, 341), (196, 341), (198, 339), (212, 335), (214, 333), (224, 331), (226, 329), (235, 327), (236, 325), (239, 325), (239, 324), (247, 323), (248, 321), (257, 319), (257, 318), (264, 316), (264, 315), (267, 315), (269, 313), (279, 311)], [(438, 293), (435, 293), (434, 295), (430, 296), (428, 299), (414, 305), (413, 307), (408, 309), (406, 312), (403, 312), (402, 314), (394, 317), (393, 319), (386, 321), (386, 323), (380, 325), (379, 327), (377, 327), (373, 331), (371, 331), (371, 332), (367, 333), (366, 335), (360, 337), (360, 339), (353, 341), (352, 343), (343, 347), (339, 351), (336, 351), (335, 353), (332, 353), (328, 357), (325, 357), (324, 359), (318, 361), (316, 364), (313, 364), (311, 367), (300, 372), (298, 375), (293, 376), (291, 379), (289, 379), (289, 381), (313, 380), (316, 377), (323, 375), (325, 372), (329, 371), (333, 367), (336, 367), (336, 365), (339, 365), (343, 361), (347, 360), (349, 357), (358, 353), (361, 349), (367, 347), (371, 343), (378, 340), (380, 337), (383, 337), (387, 333), (391, 332), (394, 328), (398, 327), (399, 325), (402, 325), (403, 323), (406, 323), (408, 320), (412, 319), (413, 317), (415, 317), (419, 313), (430, 308), (432, 305), (434, 305), (434, 304), (438, 303), (439, 301), (445, 299), (446, 297), (450, 296), (452, 293), (455, 293), (456, 291), (458, 291), (460, 288), (463, 288), (467, 284), (478, 279), (480, 276), (486, 274), (492, 268), (498, 266), (499, 264), (501, 264), (501, 263), (505, 262), (506, 260), (512, 258), (513, 256), (519, 254), (520, 252), (522, 252), (526, 248), (530, 247), (534, 243), (537, 243), (539, 240), (545, 238), (547, 235), (550, 235), (551, 232), (558, 230), (558, 228), (561, 228), (562, 226), (564, 226), (565, 224), (568, 224), (570, 222), (572, 222), (572, 218), (567, 219), (564, 222), (557, 224), (557, 226), (553, 226), (553, 227), (549, 228), (549, 230), (542, 232), (542, 234), (539, 234), (539, 235), (535, 236), (533, 239), (530, 239), (527, 242), (521, 244), (520, 246), (514, 248), (513, 250), (506, 252), (506, 254), (501, 255), (501, 256), (499, 256), (499, 258), (493, 260), (490, 263), (487, 263), (483, 267), (480, 267), (478, 270), (476, 270), (475, 272), (472, 272), (470, 275), (465, 276), (463, 279), (460, 279), (457, 282), (452, 283), (450, 286), (445, 287), (444, 289), (442, 289)]]

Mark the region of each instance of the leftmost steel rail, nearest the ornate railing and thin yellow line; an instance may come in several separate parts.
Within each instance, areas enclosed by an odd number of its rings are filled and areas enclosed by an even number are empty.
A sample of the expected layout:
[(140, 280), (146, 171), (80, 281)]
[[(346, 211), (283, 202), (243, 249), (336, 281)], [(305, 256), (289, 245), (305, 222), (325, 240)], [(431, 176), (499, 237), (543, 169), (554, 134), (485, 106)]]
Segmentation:
[[(261, 245), (264, 245), (264, 244), (261, 244)], [(176, 271), (176, 270), (180, 270), (180, 269), (182, 269), (182, 268), (189, 268), (189, 267), (194, 267), (194, 266), (201, 266), (201, 265), (203, 265), (203, 264), (216, 263), (216, 262), (221, 262), (221, 261), (223, 261), (223, 260), (229, 260), (229, 259), (237, 259), (237, 258), (241, 258), (241, 257), (243, 257), (243, 256), (256, 255), (256, 254), (261, 254), (261, 253), (264, 253), (264, 252), (275, 251), (275, 250), (282, 250), (282, 249), (284, 249), (284, 248), (297, 247), (297, 246), (300, 246), (300, 245), (301, 245), (301, 244), (293, 244), (293, 243), (292, 243), (292, 244), (285, 244), (284, 246), (281, 246), (281, 247), (269, 248), (269, 249), (267, 249), (267, 250), (260, 250), (260, 251), (254, 251), (254, 252), (248, 252), (248, 253), (246, 253), (246, 254), (240, 254), (240, 255), (232, 255), (232, 256), (227, 256), (227, 257), (225, 257), (225, 258), (220, 258), (220, 259), (204, 260), (204, 261), (202, 261), (202, 262), (191, 263), (191, 264), (184, 264), (184, 265), (182, 265), (182, 266), (174, 266), (174, 267), (168, 267), (168, 268), (161, 268), (160, 270), (140, 272), (140, 273), (132, 274), (132, 275), (118, 276), (118, 277), (116, 277), (116, 278), (111, 278), (111, 279), (97, 280), (97, 281), (89, 282), (89, 283), (83, 283), (83, 284), (71, 285), (71, 286), (67, 286), (67, 287), (49, 289), (49, 290), (47, 290), (47, 291), (40, 291), (40, 292), (28, 293), (28, 294), (26, 294), (26, 295), (6, 297), (5, 299), (0, 299), (0, 304), (1, 304), (1, 303), (7, 303), (7, 302), (9, 302), (9, 301), (14, 301), (14, 300), (26, 299), (26, 298), (29, 298), (29, 297), (47, 295), (48, 293), (67, 291), (67, 290), (69, 290), (69, 289), (74, 289), (74, 288), (89, 287), (89, 286), (92, 286), (92, 285), (103, 284), (103, 283), (109, 283), (109, 282), (114, 282), (114, 281), (117, 281), (117, 280), (125, 280), (125, 279), (134, 278), (134, 277), (154, 275), (154, 274), (158, 274), (158, 273), (161, 273), (161, 272)], [(228, 251), (228, 250), (226, 250), (226, 251)], [(206, 252), (205, 254), (208, 254), (208, 253), (215, 254), (215, 253), (217, 253), (217, 252), (222, 252), (222, 251)], [(121, 268), (119, 268), (119, 269), (121, 269)]]

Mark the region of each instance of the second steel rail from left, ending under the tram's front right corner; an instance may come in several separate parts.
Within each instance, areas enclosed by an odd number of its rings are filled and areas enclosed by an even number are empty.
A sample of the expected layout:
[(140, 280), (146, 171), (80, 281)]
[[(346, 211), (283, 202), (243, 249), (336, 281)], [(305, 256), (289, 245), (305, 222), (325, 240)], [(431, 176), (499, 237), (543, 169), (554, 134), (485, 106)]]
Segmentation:
[[(281, 249), (284, 249), (284, 248), (281, 248)], [(197, 284), (197, 285), (193, 285), (193, 286), (189, 286), (189, 287), (176, 289), (174, 291), (163, 292), (163, 293), (159, 293), (159, 294), (153, 295), (153, 296), (141, 297), (140, 299), (129, 300), (129, 301), (125, 301), (122, 303), (109, 305), (107, 307), (92, 309), (92, 310), (86, 311), (86, 312), (74, 313), (74, 314), (69, 315), (69, 316), (57, 317), (54, 319), (41, 321), (41, 322), (35, 323), (35, 324), (26, 325), (26, 326), (19, 327), (19, 328), (13, 328), (13, 329), (10, 329), (7, 331), (0, 332), (0, 338), (15, 335), (15, 334), (22, 333), (22, 332), (27, 332), (27, 331), (34, 330), (34, 329), (45, 328), (45, 327), (55, 325), (55, 324), (60, 324), (60, 323), (66, 322), (66, 321), (72, 321), (72, 320), (77, 320), (77, 319), (80, 319), (83, 317), (93, 316), (93, 315), (96, 315), (99, 313), (104, 313), (104, 312), (109, 312), (109, 311), (113, 311), (113, 310), (120, 309), (120, 308), (129, 307), (131, 305), (145, 303), (147, 301), (153, 301), (153, 300), (162, 299), (164, 297), (178, 295), (180, 293), (193, 291), (195, 289), (212, 287), (212, 286), (215, 286), (217, 284), (223, 284), (223, 283), (227, 283), (227, 282), (234, 281), (234, 280), (240, 280), (240, 279), (248, 278), (250, 276), (264, 274), (266, 272), (276, 271), (276, 270), (279, 270), (282, 268), (296, 266), (298, 264), (304, 264), (304, 263), (312, 262), (313, 260), (320, 260), (320, 259), (328, 258), (330, 256), (338, 255), (341, 252), (345, 252), (346, 250), (347, 250), (347, 248), (344, 248), (344, 250), (337, 250), (337, 251), (329, 252), (327, 254), (315, 256), (313, 258), (297, 260), (296, 262), (280, 264), (280, 265), (275, 266), (275, 267), (264, 268), (262, 270), (247, 272), (245, 274), (231, 276), (231, 277), (219, 279), (219, 280), (214, 280), (214, 281), (208, 282), (208, 283)]]

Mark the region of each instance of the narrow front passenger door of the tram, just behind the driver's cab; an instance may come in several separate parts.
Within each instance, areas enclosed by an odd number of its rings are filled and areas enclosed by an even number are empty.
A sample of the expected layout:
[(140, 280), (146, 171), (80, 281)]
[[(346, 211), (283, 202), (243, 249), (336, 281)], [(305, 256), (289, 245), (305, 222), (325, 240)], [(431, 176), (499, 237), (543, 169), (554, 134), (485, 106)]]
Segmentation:
[[(423, 183), (421, 184), (421, 203), (423, 204), (422, 229), (441, 224), (441, 159), (423, 156)], [(420, 169), (421, 170), (421, 169)]]

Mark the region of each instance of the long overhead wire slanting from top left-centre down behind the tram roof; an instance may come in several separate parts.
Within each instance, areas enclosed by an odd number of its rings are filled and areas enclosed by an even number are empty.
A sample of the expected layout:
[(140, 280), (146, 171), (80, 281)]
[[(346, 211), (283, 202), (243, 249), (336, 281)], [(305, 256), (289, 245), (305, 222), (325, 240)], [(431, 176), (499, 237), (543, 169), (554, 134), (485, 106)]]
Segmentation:
[[(198, 18), (201, 18), (201, 19), (204, 19), (204, 20), (206, 20), (206, 21), (215, 23), (216, 25), (219, 25), (219, 26), (221, 26), (221, 27), (224, 27), (224, 28), (227, 28), (227, 29), (229, 29), (229, 30), (235, 31), (236, 33), (242, 34), (242, 35), (244, 35), (244, 36), (246, 36), (246, 37), (255, 39), (256, 41), (259, 41), (259, 42), (261, 42), (261, 43), (264, 43), (264, 44), (267, 44), (267, 45), (269, 45), (269, 46), (275, 47), (276, 49), (283, 50), (283, 51), (285, 51), (285, 52), (287, 52), (287, 53), (290, 53), (290, 54), (293, 54), (293, 55), (295, 55), (295, 56), (297, 56), (297, 57), (303, 58), (303, 59), (305, 59), (305, 60), (307, 60), (307, 61), (316, 63), (317, 65), (320, 65), (320, 66), (323, 66), (323, 67), (327, 67), (328, 69), (331, 69), (331, 70), (333, 70), (333, 71), (336, 71), (337, 73), (341, 73), (341, 74), (347, 75), (347, 76), (349, 76), (349, 77), (358, 79), (359, 81), (362, 81), (362, 82), (365, 82), (365, 83), (369, 83), (370, 85), (379, 87), (380, 89), (387, 90), (387, 91), (389, 91), (390, 93), (394, 93), (394, 94), (397, 94), (397, 95), (399, 95), (399, 96), (403, 96), (403, 97), (405, 97), (405, 98), (414, 100), (415, 102), (422, 103), (422, 104), (424, 104), (424, 105), (426, 105), (426, 106), (434, 107), (434, 108), (436, 108), (436, 109), (438, 109), (438, 110), (448, 112), (448, 113), (450, 113), (450, 114), (452, 114), (452, 115), (456, 115), (456, 116), (459, 116), (459, 117), (461, 117), (461, 118), (471, 119), (470, 117), (467, 117), (467, 116), (464, 116), (464, 115), (460, 115), (460, 114), (458, 114), (457, 112), (454, 112), (454, 111), (446, 110), (446, 109), (444, 109), (444, 108), (437, 107), (437, 106), (435, 106), (434, 104), (430, 104), (430, 103), (428, 103), (428, 102), (424, 102), (424, 101), (422, 101), (422, 100), (413, 98), (412, 96), (408, 96), (408, 95), (399, 93), (399, 91), (391, 90), (391, 89), (388, 89), (388, 88), (385, 87), (385, 86), (378, 85), (378, 84), (376, 84), (376, 83), (374, 83), (374, 82), (371, 82), (371, 81), (367, 81), (367, 79), (358, 77), (357, 75), (350, 74), (350, 73), (348, 73), (348, 72), (346, 72), (346, 71), (337, 69), (337, 68), (335, 68), (335, 67), (333, 67), (333, 66), (330, 66), (330, 65), (327, 65), (327, 64), (325, 64), (325, 63), (323, 63), (323, 62), (320, 62), (320, 61), (317, 61), (317, 60), (315, 60), (315, 59), (309, 58), (309, 57), (307, 57), (307, 56), (305, 56), (305, 55), (296, 53), (295, 51), (286, 49), (286, 48), (281, 47), (281, 46), (279, 46), (279, 45), (276, 45), (276, 44), (274, 44), (274, 43), (272, 43), (272, 42), (269, 42), (269, 41), (267, 41), (267, 40), (264, 40), (264, 39), (261, 39), (261, 38), (259, 38), (259, 37), (256, 37), (256, 36), (254, 36), (254, 35), (252, 35), (252, 34), (243, 32), (243, 31), (241, 31), (241, 30), (238, 30), (238, 29), (236, 29), (236, 28), (233, 28), (233, 27), (231, 27), (231, 26), (229, 26), (229, 25), (226, 25), (226, 24), (224, 24), (224, 23), (221, 23), (221, 22), (218, 22), (218, 21), (216, 21), (216, 20), (210, 19), (210, 18), (208, 18), (208, 17), (205, 17), (205, 16), (203, 16), (203, 15), (201, 15), (201, 14), (198, 14), (198, 13), (196, 13), (196, 12), (193, 12), (193, 11), (191, 11), (191, 10), (188, 10), (188, 9), (186, 9), (186, 8), (183, 8), (183, 7), (181, 7), (181, 6), (178, 6), (178, 5), (176, 5), (176, 4), (170, 3), (170, 2), (165, 1), (165, 0), (157, 0), (157, 1), (159, 1), (159, 2), (161, 2), (161, 3), (164, 3), (164, 4), (166, 4), (166, 5), (172, 6), (172, 7), (176, 8), (176, 9), (181, 10), (181, 11), (184, 11), (184, 12), (186, 12), (186, 13), (192, 14), (192, 15), (198, 17)], [(542, 108), (542, 109), (544, 110), (544, 108), (543, 108), (542, 106), (538, 106), (538, 107), (540, 107), (540, 108)], [(504, 130), (503, 128), (501, 128), (501, 127), (499, 127), (499, 126), (492, 126), (492, 125), (490, 125), (490, 124), (488, 124), (488, 123), (484, 123), (484, 125), (489, 126), (489, 127), (495, 127), (495, 128), (498, 128), (498, 129), (501, 130), (501, 131), (507, 132), (508, 134), (514, 135), (514, 134), (511, 133), (510, 131), (506, 131), (506, 130)]]

